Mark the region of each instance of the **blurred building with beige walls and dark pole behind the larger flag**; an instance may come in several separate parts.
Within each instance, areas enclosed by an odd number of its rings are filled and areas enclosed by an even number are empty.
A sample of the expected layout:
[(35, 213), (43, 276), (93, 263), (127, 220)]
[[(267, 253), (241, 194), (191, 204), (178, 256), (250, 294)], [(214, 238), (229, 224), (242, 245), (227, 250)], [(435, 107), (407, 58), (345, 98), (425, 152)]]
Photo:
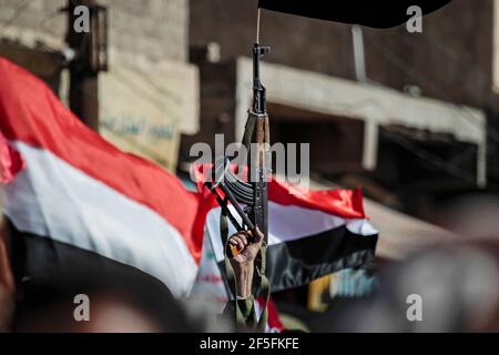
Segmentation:
[[(68, 32), (81, 4), (91, 31)], [(180, 134), (198, 129), (187, 0), (1, 0), (0, 9), (0, 55), (120, 148), (175, 170)]]

